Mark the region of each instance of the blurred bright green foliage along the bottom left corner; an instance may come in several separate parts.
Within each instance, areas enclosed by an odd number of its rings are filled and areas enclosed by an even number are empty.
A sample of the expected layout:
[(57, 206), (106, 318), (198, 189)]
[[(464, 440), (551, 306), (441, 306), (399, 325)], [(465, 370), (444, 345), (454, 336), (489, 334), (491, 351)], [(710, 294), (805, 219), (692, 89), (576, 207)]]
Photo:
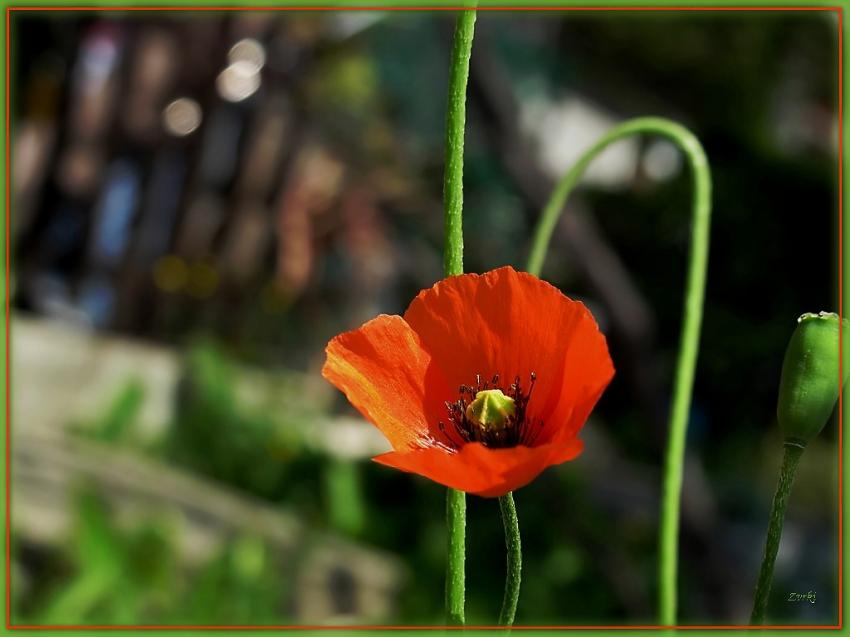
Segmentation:
[(174, 528), (150, 519), (119, 528), (105, 502), (84, 489), (76, 498), (67, 547), (72, 570), (19, 614), (36, 624), (273, 623), (282, 584), (264, 543), (234, 538), (198, 572), (178, 563)]

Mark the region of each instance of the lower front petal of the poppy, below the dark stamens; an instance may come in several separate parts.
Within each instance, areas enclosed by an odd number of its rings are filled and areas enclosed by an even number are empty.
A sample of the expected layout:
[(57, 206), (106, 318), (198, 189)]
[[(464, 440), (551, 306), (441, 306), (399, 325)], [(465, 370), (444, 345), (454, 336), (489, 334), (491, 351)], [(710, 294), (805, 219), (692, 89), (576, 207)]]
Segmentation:
[(473, 442), (456, 453), (436, 447), (391, 451), (373, 458), (379, 464), (424, 476), (452, 489), (495, 498), (525, 486), (547, 467), (581, 453), (578, 438), (537, 447), (491, 449)]

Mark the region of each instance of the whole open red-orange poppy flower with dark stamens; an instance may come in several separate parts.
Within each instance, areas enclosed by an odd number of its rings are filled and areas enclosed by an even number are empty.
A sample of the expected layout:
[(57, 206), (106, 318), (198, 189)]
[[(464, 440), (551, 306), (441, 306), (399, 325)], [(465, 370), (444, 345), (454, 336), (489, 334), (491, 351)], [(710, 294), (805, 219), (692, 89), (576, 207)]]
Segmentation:
[(381, 464), (496, 497), (575, 458), (614, 375), (587, 308), (503, 267), (334, 338), (322, 375), (387, 437)]

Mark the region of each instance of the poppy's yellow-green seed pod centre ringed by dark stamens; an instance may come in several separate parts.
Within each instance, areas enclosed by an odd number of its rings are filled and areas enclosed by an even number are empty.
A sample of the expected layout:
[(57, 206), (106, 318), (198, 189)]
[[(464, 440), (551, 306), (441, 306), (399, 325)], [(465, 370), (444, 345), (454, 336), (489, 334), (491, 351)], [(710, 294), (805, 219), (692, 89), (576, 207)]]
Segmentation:
[(499, 384), (499, 375), (482, 382), (476, 374), (475, 385), (461, 385), (460, 397), (446, 401), (448, 424), (440, 421), (441, 441), (451, 449), (467, 442), (480, 442), (486, 447), (530, 446), (543, 428), (543, 422), (526, 414), (537, 376), (531, 373), (528, 392), (523, 391), (519, 376), (507, 388)]

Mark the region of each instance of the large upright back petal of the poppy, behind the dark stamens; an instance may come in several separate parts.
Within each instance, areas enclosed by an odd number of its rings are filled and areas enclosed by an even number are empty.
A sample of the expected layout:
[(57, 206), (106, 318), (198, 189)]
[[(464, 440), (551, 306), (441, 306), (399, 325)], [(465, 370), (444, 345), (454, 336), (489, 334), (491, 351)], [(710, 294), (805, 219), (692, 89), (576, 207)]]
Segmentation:
[(614, 374), (584, 304), (511, 267), (448, 277), (422, 291), (404, 319), (450, 387), (500, 374), (527, 390), (534, 372), (529, 411), (544, 421), (541, 443), (574, 437)]

